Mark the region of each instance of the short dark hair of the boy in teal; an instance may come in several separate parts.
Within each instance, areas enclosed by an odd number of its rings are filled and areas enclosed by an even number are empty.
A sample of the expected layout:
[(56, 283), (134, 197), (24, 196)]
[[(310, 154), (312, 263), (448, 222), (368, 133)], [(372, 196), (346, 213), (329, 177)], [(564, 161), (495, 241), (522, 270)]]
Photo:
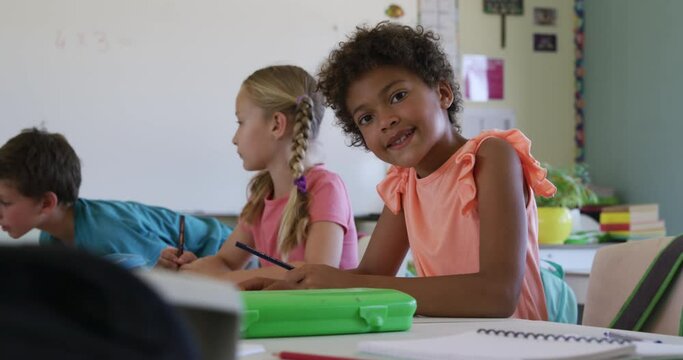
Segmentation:
[(0, 180), (34, 199), (52, 191), (70, 206), (78, 199), (81, 161), (63, 135), (24, 129), (0, 148)]

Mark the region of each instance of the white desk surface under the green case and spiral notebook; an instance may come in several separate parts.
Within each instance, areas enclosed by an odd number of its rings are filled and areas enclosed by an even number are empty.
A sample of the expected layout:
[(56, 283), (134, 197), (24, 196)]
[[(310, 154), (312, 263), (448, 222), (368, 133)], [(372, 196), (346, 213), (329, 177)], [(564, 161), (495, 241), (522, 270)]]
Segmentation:
[[(277, 357), (272, 354), (280, 351), (347, 356), (359, 359), (387, 359), (386, 357), (358, 353), (356, 351), (357, 344), (367, 340), (423, 339), (458, 334), (479, 328), (501, 328), (515, 331), (557, 334), (571, 333), (588, 336), (602, 336), (604, 331), (607, 330), (604, 328), (581, 325), (518, 319), (415, 318), (412, 328), (409, 331), (402, 332), (241, 340), (244, 343), (263, 345), (266, 351), (259, 354), (243, 356), (239, 359), (277, 359)], [(625, 333), (631, 333), (634, 336), (639, 336), (641, 338), (659, 339), (665, 343), (683, 345), (683, 337), (633, 333), (630, 331), (626, 331)]]

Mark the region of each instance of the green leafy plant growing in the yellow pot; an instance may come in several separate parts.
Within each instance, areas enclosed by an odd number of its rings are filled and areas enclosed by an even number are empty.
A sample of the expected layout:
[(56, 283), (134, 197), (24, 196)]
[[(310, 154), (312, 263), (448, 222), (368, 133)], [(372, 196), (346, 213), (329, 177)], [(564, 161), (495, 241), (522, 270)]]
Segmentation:
[(590, 179), (585, 165), (577, 164), (568, 169), (555, 168), (548, 164), (543, 164), (543, 167), (548, 170), (548, 180), (557, 187), (557, 193), (549, 198), (536, 196), (537, 206), (571, 209), (598, 202), (597, 195), (588, 188)]

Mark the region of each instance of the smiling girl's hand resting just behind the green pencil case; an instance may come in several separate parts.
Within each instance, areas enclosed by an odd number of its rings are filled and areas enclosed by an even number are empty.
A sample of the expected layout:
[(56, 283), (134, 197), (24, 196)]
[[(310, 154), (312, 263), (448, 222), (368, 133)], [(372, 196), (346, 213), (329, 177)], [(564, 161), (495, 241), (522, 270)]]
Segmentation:
[(306, 264), (288, 271), (284, 280), (254, 278), (243, 281), (243, 290), (331, 289), (356, 287), (356, 275), (328, 265)]

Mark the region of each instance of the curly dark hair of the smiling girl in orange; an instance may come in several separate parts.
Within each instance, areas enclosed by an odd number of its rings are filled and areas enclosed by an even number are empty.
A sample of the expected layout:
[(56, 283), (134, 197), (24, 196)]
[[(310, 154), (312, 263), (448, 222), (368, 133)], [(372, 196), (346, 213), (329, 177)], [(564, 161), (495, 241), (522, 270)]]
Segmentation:
[(455, 82), (453, 68), (438, 41), (438, 35), (425, 31), (422, 26), (413, 29), (383, 21), (374, 28), (357, 27), (346, 42), (341, 42), (339, 48), (330, 53), (318, 73), (318, 86), (325, 95), (326, 105), (334, 110), (337, 125), (350, 137), (351, 146), (367, 149), (360, 129), (346, 108), (349, 87), (368, 71), (385, 65), (405, 68), (430, 87), (447, 81), (454, 95), (448, 118), (460, 131), (456, 118), (462, 109), (460, 86)]

